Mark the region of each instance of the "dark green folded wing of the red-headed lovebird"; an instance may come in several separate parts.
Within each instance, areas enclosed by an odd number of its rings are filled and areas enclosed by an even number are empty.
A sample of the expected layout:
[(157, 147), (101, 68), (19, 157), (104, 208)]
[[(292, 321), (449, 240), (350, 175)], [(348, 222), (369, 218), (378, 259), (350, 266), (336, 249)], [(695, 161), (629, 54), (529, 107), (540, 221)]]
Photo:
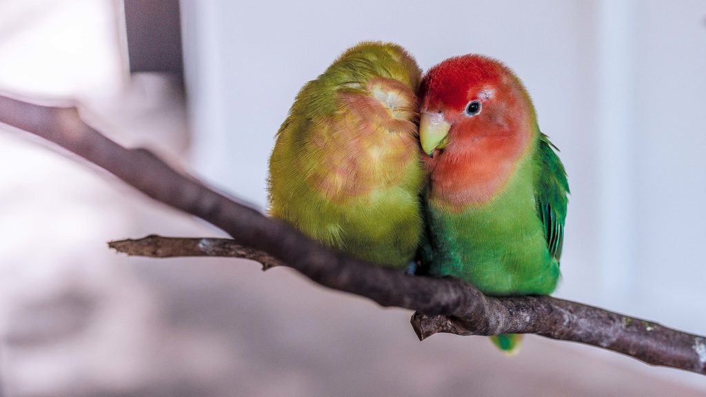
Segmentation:
[(539, 177), (537, 179), (537, 211), (544, 225), (549, 253), (559, 262), (564, 242), (564, 221), (569, 184), (561, 160), (556, 155), (558, 148), (549, 137), (539, 133)]

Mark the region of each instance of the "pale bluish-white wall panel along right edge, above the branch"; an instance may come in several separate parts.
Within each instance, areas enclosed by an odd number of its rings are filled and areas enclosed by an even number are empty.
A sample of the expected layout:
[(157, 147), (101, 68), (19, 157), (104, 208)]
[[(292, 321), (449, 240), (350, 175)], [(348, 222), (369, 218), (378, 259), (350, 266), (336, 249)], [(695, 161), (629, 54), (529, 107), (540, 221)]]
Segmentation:
[(635, 295), (640, 310), (706, 332), (706, 2), (636, 10)]

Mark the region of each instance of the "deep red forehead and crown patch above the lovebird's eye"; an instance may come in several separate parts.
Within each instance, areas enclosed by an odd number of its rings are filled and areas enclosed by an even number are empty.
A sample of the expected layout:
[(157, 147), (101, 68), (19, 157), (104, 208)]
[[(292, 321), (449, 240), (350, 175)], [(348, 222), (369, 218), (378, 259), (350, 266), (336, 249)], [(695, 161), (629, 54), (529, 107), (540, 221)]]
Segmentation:
[(446, 59), (426, 73), (419, 96), (424, 107), (463, 109), (470, 99), (469, 90), (498, 86), (507, 73), (501, 62), (482, 55)]

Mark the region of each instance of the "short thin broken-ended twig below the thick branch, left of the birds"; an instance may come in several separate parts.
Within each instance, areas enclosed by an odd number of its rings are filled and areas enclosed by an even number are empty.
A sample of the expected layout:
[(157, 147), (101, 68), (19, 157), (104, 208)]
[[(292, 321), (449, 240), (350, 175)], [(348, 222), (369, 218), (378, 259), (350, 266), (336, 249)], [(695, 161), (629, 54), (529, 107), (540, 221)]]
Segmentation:
[(149, 235), (141, 239), (124, 239), (108, 243), (108, 247), (130, 256), (174, 258), (177, 256), (221, 256), (250, 259), (262, 264), (263, 271), (282, 266), (280, 261), (257, 249), (243, 247), (232, 239), (211, 237), (162, 237)]

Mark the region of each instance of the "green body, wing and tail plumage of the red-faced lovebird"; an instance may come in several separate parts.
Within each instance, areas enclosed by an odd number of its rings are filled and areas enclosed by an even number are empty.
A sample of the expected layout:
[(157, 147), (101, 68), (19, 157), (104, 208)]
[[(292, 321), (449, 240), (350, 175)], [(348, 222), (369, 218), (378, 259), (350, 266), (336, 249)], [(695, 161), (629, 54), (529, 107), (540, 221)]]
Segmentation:
[[(569, 188), (549, 138), (536, 124), (533, 135), (530, 150), (489, 202), (461, 213), (428, 203), (424, 256), (429, 273), (462, 278), (491, 296), (554, 292)], [(512, 353), (520, 336), (491, 340)]]

